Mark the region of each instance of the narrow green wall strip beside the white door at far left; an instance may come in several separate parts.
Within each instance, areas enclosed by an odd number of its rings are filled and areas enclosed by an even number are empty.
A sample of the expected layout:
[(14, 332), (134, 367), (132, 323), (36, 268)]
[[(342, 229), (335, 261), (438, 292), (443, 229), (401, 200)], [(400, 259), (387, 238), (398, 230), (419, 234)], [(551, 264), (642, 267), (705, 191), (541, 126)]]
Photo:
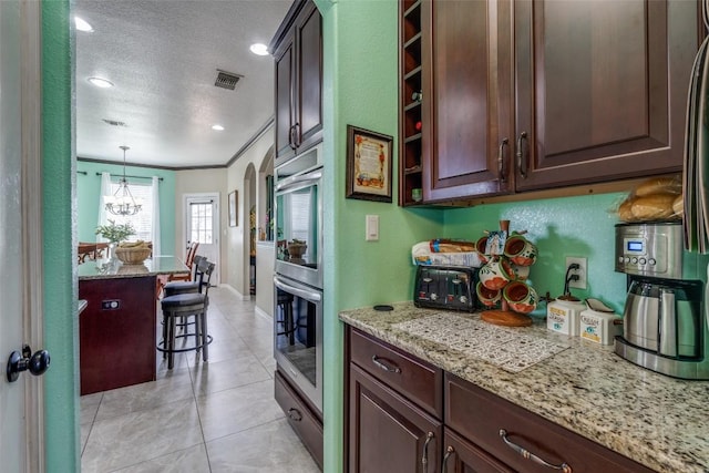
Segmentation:
[[(69, 1), (42, 2), (42, 173), (45, 464), (49, 473), (80, 471), (79, 347), (72, 235), (74, 116), (73, 37)], [(39, 349), (40, 347), (32, 347)]]

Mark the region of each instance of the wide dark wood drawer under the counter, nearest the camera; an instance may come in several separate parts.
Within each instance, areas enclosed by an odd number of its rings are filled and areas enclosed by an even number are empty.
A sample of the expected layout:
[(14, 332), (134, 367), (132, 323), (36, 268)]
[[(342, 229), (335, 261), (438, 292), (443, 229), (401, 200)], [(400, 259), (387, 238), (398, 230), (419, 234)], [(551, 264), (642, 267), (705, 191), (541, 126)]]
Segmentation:
[(444, 385), (445, 424), (514, 470), (552, 471), (505, 444), (503, 429), (508, 442), (551, 464), (566, 463), (574, 473), (653, 471), (452, 374)]

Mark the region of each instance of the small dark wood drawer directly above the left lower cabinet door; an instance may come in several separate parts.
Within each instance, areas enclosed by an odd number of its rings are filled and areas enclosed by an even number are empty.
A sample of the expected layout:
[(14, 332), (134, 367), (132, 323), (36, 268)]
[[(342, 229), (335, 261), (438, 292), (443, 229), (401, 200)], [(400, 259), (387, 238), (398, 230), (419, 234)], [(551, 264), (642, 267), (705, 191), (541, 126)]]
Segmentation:
[(350, 356), (372, 377), (442, 418), (442, 370), (357, 329), (350, 329)]

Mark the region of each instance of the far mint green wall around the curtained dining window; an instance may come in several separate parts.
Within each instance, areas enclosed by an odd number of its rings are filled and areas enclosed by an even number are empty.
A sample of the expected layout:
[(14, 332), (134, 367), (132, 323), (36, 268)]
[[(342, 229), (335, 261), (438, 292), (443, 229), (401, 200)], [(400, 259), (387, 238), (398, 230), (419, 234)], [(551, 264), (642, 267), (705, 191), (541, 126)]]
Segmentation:
[[(111, 176), (123, 174), (122, 164), (76, 162), (76, 209), (79, 241), (95, 241), (95, 229), (99, 219), (99, 196), (101, 195), (101, 176), (96, 173), (107, 172)], [(129, 176), (162, 177), (160, 183), (160, 220), (161, 220), (161, 251), (163, 255), (175, 254), (175, 172), (150, 167), (125, 166)], [(129, 177), (129, 186), (132, 179)], [(140, 179), (141, 184), (150, 183)]]

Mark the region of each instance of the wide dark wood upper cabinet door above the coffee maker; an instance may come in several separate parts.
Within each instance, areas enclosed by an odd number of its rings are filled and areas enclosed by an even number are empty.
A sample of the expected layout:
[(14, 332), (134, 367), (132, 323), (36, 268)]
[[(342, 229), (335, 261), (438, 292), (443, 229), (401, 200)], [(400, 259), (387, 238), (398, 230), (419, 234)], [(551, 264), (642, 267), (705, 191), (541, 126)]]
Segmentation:
[(516, 188), (681, 169), (695, 1), (520, 1)]

